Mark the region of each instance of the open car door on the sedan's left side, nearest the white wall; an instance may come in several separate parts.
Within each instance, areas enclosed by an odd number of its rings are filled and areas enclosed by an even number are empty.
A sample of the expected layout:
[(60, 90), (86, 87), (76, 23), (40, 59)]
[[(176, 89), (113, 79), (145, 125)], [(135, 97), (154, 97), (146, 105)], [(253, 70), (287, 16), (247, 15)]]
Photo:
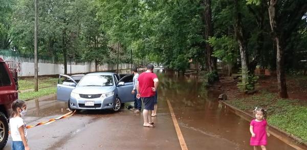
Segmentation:
[(57, 84), (57, 100), (67, 102), (76, 85), (77, 82), (72, 77), (60, 74)]

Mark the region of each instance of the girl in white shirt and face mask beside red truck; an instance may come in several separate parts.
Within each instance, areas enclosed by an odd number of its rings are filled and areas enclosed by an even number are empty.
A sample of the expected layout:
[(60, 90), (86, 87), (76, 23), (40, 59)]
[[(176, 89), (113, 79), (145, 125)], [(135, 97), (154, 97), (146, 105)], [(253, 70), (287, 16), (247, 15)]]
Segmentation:
[(27, 104), (23, 100), (15, 100), (12, 103), (12, 117), (10, 130), (13, 139), (12, 150), (29, 150), (27, 139), (27, 127), (23, 117), (27, 113)]

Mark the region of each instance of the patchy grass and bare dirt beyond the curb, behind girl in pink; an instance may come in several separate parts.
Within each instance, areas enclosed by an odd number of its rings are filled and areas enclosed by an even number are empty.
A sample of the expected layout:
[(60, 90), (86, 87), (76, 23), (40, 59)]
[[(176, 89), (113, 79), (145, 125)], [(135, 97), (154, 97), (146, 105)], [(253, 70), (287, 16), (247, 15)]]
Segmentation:
[(261, 91), (248, 98), (227, 101), (227, 103), (244, 111), (251, 112), (256, 106), (265, 108), (268, 122), (283, 131), (307, 142), (307, 104), (299, 100), (278, 99), (277, 95)]

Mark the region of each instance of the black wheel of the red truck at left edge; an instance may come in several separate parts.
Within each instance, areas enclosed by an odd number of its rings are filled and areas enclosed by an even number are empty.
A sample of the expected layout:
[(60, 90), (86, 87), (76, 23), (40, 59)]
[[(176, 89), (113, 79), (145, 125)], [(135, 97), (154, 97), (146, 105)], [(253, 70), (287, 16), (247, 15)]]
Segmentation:
[(3, 112), (0, 112), (0, 148), (2, 149), (9, 137), (9, 122)]

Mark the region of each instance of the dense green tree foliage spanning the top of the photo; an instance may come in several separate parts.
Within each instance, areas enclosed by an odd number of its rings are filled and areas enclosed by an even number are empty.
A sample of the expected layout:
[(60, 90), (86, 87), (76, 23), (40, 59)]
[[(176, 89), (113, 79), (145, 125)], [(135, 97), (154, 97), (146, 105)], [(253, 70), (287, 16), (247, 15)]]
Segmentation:
[[(293, 1), (289, 10), (294, 10), (298, 4)], [(67, 51), (76, 60), (115, 63), (119, 47), (119, 62), (130, 62), (132, 52), (135, 63), (159, 61), (157, 63), (178, 68), (178, 59), (185, 57), (203, 66), (206, 64), (203, 1), (40, 0), (38, 5), (39, 55), (54, 56), (62, 61)], [(250, 61), (257, 59), (261, 67), (275, 68), (276, 51), (268, 34), (271, 28), (266, 1), (239, 0), (238, 5)], [(239, 64), (234, 4), (211, 1), (211, 9), (214, 36), (208, 42), (214, 49), (213, 56), (226, 63)], [(300, 18), (293, 34), (287, 36), (290, 37), (287, 69), (306, 68), (305, 63), (299, 61), (307, 59), (304, 55), (306, 18)], [(290, 28), (291, 22), (287, 19), (284, 26)], [(33, 1), (1, 1), (0, 49), (14, 48), (21, 54), (32, 55), (33, 22)]]

